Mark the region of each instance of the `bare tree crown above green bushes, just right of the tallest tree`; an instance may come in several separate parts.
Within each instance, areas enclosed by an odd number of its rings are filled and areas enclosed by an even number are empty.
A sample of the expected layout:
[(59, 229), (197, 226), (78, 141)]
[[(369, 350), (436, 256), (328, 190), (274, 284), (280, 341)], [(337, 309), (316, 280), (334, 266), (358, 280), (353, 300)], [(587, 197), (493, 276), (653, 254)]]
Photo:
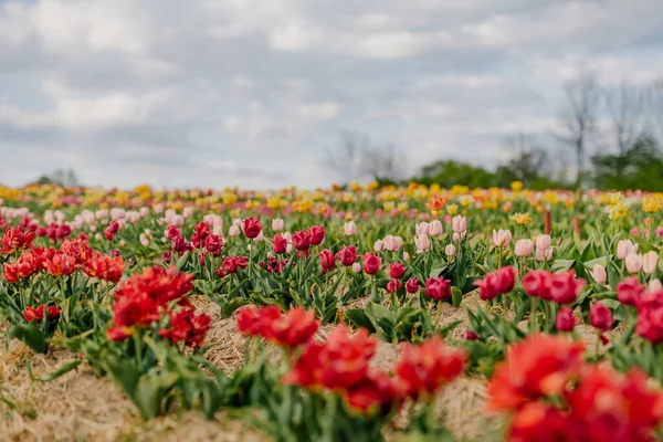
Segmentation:
[(646, 130), (646, 96), (642, 88), (622, 83), (603, 92), (610, 117), (611, 145), (625, 154)]

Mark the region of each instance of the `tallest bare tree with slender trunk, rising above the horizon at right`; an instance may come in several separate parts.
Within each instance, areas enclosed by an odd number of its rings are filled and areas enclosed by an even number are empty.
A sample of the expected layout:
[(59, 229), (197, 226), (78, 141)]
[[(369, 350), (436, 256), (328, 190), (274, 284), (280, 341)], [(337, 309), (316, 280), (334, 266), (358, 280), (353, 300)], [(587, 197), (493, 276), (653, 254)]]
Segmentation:
[(600, 107), (600, 88), (590, 74), (582, 74), (565, 85), (566, 103), (560, 108), (561, 130), (557, 137), (576, 154), (578, 173), (576, 183), (582, 183), (585, 156), (596, 135), (596, 120)]

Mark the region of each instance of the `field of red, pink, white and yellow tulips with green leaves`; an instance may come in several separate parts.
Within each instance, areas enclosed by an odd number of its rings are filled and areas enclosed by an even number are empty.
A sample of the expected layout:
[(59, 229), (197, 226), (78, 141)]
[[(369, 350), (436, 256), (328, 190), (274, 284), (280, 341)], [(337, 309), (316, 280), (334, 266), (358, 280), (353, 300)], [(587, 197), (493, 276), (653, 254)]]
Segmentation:
[(663, 440), (663, 194), (0, 201), (0, 440)]

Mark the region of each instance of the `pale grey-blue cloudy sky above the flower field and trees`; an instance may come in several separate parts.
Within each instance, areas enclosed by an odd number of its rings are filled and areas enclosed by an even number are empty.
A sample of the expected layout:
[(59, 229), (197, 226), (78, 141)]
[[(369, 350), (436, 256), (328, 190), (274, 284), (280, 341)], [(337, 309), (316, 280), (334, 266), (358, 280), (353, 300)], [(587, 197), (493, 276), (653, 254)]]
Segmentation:
[(341, 130), (490, 166), (662, 50), (661, 0), (0, 0), (0, 181), (326, 186)]

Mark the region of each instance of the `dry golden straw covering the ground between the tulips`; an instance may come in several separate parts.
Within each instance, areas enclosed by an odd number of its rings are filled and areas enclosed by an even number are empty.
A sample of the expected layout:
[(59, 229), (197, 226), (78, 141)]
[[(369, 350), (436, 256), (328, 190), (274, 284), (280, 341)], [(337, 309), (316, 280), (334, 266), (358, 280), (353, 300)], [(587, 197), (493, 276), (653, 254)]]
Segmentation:
[[(245, 339), (235, 328), (233, 318), (222, 319), (219, 307), (206, 297), (193, 297), (200, 312), (212, 316), (209, 333), (210, 350), (207, 357), (225, 372), (241, 367)], [(454, 333), (459, 337), (467, 326), (464, 307), (480, 305), (476, 294), (463, 301), (455, 309), (443, 304), (441, 324), (454, 320), (462, 324)], [(32, 382), (25, 368), (30, 359), (33, 376), (39, 378), (62, 367), (74, 355), (53, 348), (48, 355), (34, 355), (21, 343), (12, 341), (4, 349), (0, 328), (0, 383), (14, 410), (0, 404), (0, 440), (17, 441), (264, 441), (266, 436), (248, 428), (236, 419), (220, 413), (215, 421), (204, 421), (199, 413), (186, 412), (144, 423), (131, 402), (110, 380), (97, 378), (90, 367), (76, 370), (51, 382)], [(320, 335), (330, 327), (323, 327)], [(278, 351), (274, 350), (274, 358)], [(398, 359), (398, 346), (381, 343), (375, 364), (390, 368)], [(460, 440), (487, 440), (501, 421), (485, 413), (486, 382), (462, 378), (450, 385), (439, 397), (436, 415)]]

